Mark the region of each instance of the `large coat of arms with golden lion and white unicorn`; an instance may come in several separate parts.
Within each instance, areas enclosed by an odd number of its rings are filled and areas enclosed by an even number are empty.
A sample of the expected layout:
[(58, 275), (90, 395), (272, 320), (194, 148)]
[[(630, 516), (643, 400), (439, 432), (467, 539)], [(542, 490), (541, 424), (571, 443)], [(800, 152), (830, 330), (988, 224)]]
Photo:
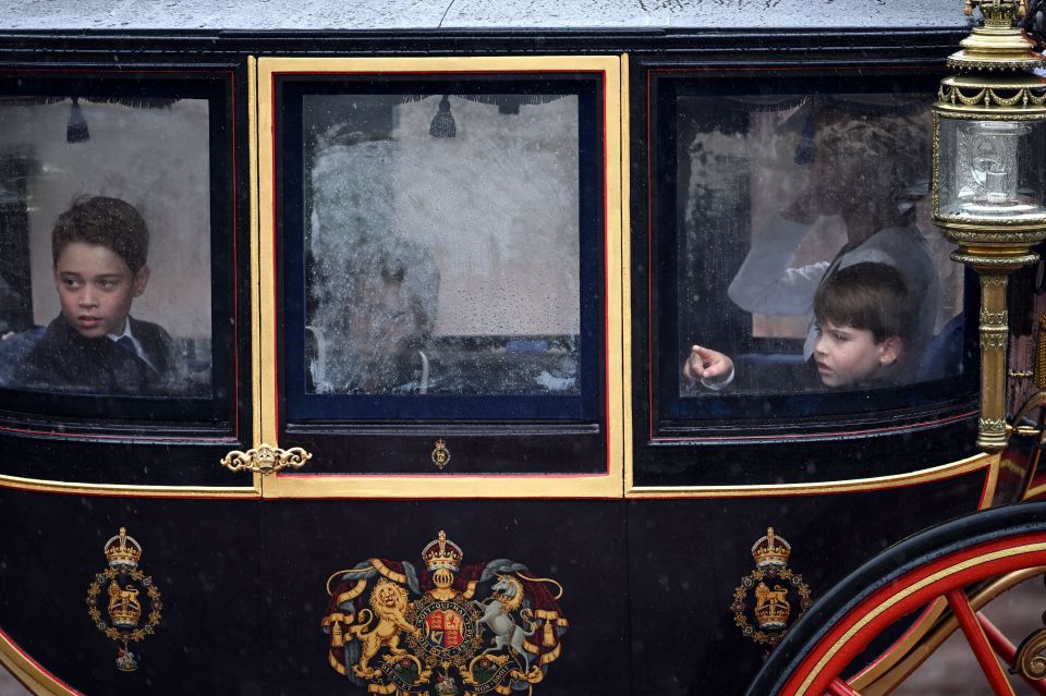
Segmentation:
[(443, 532), (408, 561), (368, 559), (327, 581), (330, 666), (368, 694), (530, 692), (560, 655), (563, 588), (522, 563), (462, 564)]

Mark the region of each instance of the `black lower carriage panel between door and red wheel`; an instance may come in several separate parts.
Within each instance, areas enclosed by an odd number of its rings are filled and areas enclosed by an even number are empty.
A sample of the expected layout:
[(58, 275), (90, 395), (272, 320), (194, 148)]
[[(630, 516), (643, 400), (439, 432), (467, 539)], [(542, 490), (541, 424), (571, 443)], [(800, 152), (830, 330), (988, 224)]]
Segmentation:
[[(630, 500), (629, 545), (656, 559), (630, 566), (630, 693), (741, 693), (782, 635), (754, 615), (756, 585), (788, 586), (791, 630), (810, 608), (804, 599), (819, 600), (874, 549), (977, 510), (986, 474), (982, 467), (908, 487), (783, 498)], [(904, 513), (883, 514), (887, 509)], [(776, 582), (757, 566), (768, 527), (790, 545)], [(686, 638), (694, 625), (698, 640)]]

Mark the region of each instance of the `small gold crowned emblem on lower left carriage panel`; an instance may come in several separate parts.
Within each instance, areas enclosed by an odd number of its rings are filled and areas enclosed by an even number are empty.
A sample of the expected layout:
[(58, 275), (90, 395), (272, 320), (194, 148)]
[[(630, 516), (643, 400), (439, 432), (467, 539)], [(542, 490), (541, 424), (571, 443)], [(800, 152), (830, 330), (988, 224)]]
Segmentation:
[[(109, 567), (95, 575), (87, 588), (87, 613), (107, 638), (120, 644), (117, 668), (124, 672), (138, 669), (137, 656), (129, 647), (153, 635), (160, 622), (160, 590), (153, 578), (138, 569), (142, 546), (120, 527), (120, 534), (106, 541)], [(99, 602), (105, 603), (105, 613)], [(145, 624), (139, 625), (145, 615)]]

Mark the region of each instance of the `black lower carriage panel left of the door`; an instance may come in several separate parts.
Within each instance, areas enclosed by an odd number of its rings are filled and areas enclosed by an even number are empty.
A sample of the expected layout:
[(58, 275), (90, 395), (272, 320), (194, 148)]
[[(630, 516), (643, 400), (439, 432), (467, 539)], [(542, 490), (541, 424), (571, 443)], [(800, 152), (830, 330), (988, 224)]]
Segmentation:
[[(264, 621), (272, 600), (257, 560), (260, 505), (0, 489), (0, 523), (26, 532), (9, 535), (3, 547), (15, 569), (0, 600), (5, 664), (12, 656), (35, 660), (27, 664), (34, 693), (265, 693), (265, 666), (276, 657), (243, 639), (272, 639)], [(228, 520), (236, 524), (221, 524)], [(121, 529), (136, 555), (122, 575), (105, 552)], [(53, 553), (53, 565), (40, 563), (41, 549)], [(107, 611), (114, 582), (142, 612), (130, 640), (131, 628), (120, 626), (121, 640)], [(47, 602), (28, 600), (42, 588)], [(59, 624), (65, 637), (56, 640)], [(127, 651), (131, 663), (118, 661)]]

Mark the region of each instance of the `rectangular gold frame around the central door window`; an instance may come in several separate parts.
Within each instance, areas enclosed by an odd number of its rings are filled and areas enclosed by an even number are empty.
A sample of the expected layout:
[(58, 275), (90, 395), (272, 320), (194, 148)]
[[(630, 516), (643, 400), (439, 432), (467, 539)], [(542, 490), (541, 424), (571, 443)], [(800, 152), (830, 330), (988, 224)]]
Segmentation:
[[(605, 295), (606, 295), (606, 403), (601, 405), (606, 437), (606, 467), (595, 474), (452, 474), (436, 471), (413, 474), (328, 474), (301, 472), (265, 476), (258, 485), (266, 498), (622, 498), (625, 460), (624, 395), (629, 393), (627, 365), (629, 339), (624, 316), (629, 260), (628, 240), (628, 61), (624, 56), (454, 57), (454, 58), (259, 58), (257, 59), (257, 123), (252, 127), (256, 152), (252, 179), (257, 181), (252, 204), (257, 203), (257, 234), (252, 254), (255, 272), (257, 330), (255, 333), (254, 384), (255, 447), (267, 443), (293, 448), (280, 441), (279, 384), (277, 383), (276, 224), (273, 204), (278, 172), (275, 170), (275, 81), (283, 74), (337, 75), (497, 75), (542, 72), (601, 73), (605, 117)], [(254, 174), (256, 172), (256, 179)], [(288, 438), (289, 439), (289, 438)], [(434, 438), (435, 440), (435, 438)], [(257, 475), (256, 475), (257, 476)]]

